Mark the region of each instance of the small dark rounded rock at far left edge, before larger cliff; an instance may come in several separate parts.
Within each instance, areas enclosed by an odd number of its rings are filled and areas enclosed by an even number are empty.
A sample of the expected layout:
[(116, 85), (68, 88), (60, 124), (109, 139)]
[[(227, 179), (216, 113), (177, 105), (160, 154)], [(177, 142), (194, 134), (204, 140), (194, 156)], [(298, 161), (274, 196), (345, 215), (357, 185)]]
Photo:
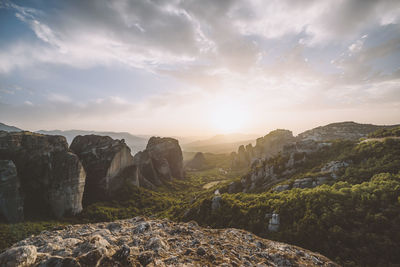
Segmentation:
[(24, 202), (17, 168), (11, 160), (0, 160), (0, 213), (9, 222), (24, 219)]

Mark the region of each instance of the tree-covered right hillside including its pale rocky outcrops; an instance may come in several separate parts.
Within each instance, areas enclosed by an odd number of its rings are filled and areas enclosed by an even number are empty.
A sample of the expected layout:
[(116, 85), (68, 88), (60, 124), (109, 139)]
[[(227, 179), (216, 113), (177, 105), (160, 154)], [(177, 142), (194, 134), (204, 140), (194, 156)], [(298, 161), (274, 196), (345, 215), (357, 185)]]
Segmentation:
[(247, 229), (345, 266), (400, 263), (399, 139), (279, 154), (218, 191), (196, 201), (185, 220)]

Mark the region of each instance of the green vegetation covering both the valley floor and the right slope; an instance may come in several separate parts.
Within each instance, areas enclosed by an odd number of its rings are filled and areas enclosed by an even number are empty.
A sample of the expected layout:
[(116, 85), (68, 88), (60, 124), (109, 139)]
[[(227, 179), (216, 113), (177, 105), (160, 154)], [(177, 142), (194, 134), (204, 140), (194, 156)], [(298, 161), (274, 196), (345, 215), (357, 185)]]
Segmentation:
[[(92, 204), (76, 217), (58, 222), (0, 224), (0, 246), (5, 248), (30, 234), (59, 225), (145, 215), (246, 229), (318, 251), (344, 266), (400, 264), (400, 140), (335, 141), (307, 154), (305, 160), (305, 154), (299, 153), (295, 155), (299, 160), (295, 171), (283, 183), (321, 176), (321, 168), (331, 161), (345, 161), (349, 166), (329, 185), (283, 192), (222, 194), (221, 208), (215, 211), (211, 209), (214, 191), (239, 180), (246, 170), (225, 173), (221, 168), (229, 163), (226, 156), (205, 155), (217, 168), (187, 172), (185, 179), (156, 191), (127, 185), (118, 192), (117, 199)], [(273, 165), (279, 174), (285, 171), (287, 160), (287, 156), (278, 155), (267, 164)], [(268, 231), (266, 215), (274, 212), (280, 216), (278, 232)]]

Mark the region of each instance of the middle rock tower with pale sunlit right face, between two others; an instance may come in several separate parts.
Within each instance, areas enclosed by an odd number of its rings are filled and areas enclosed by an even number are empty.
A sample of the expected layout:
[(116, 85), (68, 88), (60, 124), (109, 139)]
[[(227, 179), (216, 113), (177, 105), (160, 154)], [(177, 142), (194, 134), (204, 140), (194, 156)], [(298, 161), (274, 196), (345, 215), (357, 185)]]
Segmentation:
[(109, 136), (78, 135), (70, 146), (86, 171), (84, 204), (106, 200), (122, 185), (120, 174), (133, 165), (130, 148), (124, 140)]

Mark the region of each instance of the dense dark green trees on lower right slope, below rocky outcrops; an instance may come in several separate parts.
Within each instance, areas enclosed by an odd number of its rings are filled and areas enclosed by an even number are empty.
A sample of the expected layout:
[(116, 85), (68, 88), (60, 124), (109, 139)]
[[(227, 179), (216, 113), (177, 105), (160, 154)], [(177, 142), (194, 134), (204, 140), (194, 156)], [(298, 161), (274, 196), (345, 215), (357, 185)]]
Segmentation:
[[(221, 208), (211, 200), (188, 214), (201, 225), (242, 228), (318, 251), (346, 266), (399, 263), (400, 175), (383, 173), (352, 185), (338, 182), (281, 193), (223, 194)], [(268, 232), (266, 214), (280, 215), (280, 230)]]

